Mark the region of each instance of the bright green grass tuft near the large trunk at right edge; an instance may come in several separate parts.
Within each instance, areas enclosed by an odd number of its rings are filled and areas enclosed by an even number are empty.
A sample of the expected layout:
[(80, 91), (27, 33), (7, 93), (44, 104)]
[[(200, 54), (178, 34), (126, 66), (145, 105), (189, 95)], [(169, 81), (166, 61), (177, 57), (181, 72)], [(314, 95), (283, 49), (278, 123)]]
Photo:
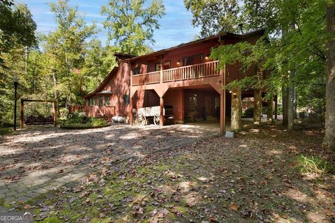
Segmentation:
[(322, 176), (327, 172), (334, 172), (334, 166), (320, 157), (299, 155), (296, 167), (303, 174), (317, 174)]

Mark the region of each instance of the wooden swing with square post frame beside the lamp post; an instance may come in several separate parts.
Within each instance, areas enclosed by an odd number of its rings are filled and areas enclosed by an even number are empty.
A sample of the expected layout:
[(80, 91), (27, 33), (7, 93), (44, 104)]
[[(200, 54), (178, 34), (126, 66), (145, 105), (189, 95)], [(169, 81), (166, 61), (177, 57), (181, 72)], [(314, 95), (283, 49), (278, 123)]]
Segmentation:
[[(29, 102), (24, 107), (24, 102)], [(43, 102), (41, 104), (40, 102)], [(52, 105), (53, 104), (53, 105)], [(57, 125), (57, 102), (53, 100), (21, 99), (21, 128), (26, 125)], [(24, 114), (24, 111), (26, 114)]]

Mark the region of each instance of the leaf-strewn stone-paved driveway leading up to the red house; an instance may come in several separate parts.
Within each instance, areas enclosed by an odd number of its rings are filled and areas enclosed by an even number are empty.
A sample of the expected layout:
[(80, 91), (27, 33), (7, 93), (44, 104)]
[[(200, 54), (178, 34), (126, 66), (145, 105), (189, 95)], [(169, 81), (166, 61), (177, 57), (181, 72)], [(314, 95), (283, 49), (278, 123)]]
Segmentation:
[(211, 134), (218, 130), (198, 125), (26, 128), (0, 138), (0, 201), (26, 201), (114, 162), (192, 144)]

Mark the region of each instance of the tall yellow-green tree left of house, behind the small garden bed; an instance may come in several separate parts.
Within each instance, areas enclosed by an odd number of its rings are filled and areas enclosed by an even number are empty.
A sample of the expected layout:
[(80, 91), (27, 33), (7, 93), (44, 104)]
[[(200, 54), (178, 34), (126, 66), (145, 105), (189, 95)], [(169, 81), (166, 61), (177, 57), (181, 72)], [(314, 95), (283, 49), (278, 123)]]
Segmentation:
[(84, 93), (81, 69), (84, 66), (85, 40), (96, 33), (96, 25), (88, 26), (68, 1), (51, 3), (57, 29), (43, 38), (45, 72), (52, 77), (54, 99), (60, 105), (80, 102)]

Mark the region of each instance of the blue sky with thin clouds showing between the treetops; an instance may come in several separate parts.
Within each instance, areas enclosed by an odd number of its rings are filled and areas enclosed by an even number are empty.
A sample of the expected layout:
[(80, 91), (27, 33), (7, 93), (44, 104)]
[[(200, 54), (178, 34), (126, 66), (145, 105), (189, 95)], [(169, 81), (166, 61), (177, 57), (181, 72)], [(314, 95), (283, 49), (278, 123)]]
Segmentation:
[[(37, 31), (47, 33), (56, 29), (54, 15), (50, 11), (48, 3), (56, 0), (15, 0), (15, 3), (26, 3), (31, 10)], [(107, 0), (70, 0), (71, 6), (77, 6), (80, 14), (85, 15), (87, 24), (95, 21), (97, 26), (103, 29), (100, 22), (105, 20), (101, 15), (101, 6), (107, 5)], [(154, 45), (149, 45), (155, 51), (173, 47), (181, 43), (191, 41), (197, 33), (198, 27), (191, 24), (192, 14), (184, 6), (183, 0), (163, 0), (165, 15), (160, 20), (160, 29), (154, 32)], [(107, 31), (102, 30), (96, 34), (103, 44), (107, 40)]]

